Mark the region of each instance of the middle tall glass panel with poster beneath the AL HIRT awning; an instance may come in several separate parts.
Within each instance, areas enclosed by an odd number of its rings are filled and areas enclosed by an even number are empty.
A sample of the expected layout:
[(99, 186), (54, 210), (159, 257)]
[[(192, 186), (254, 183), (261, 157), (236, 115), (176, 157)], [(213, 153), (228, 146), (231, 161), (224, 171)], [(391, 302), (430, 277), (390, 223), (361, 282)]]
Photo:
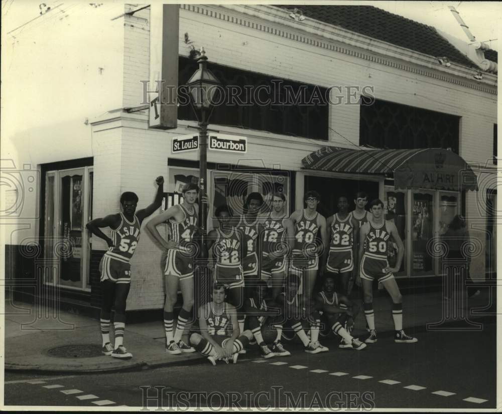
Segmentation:
[(434, 195), (413, 194), (413, 275), (433, 272), (433, 260), (427, 252), (427, 243), (434, 236)]

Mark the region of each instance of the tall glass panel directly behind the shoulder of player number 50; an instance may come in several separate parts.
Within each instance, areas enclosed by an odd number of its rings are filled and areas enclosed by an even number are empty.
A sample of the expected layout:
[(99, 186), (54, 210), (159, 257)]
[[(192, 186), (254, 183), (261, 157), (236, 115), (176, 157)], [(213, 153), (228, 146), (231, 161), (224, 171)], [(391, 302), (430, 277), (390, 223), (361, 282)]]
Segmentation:
[[(401, 262), (400, 273), (404, 273), (406, 267), (406, 193), (402, 191), (394, 191), (392, 187), (385, 188), (385, 200), (384, 200), (384, 213), (385, 219), (392, 221), (396, 228), (398, 229), (399, 236), (403, 240), (405, 245), (405, 252), (403, 255), (403, 261)], [(397, 259), (397, 244), (390, 240), (388, 246), (389, 252), (389, 264), (394, 266)]]

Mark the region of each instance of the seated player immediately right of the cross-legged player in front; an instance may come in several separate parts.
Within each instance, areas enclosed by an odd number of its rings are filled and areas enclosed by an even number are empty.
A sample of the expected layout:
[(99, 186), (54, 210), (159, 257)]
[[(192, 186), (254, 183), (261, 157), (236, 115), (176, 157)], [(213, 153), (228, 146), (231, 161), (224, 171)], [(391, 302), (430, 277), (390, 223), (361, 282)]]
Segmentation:
[[(267, 290), (267, 284), (264, 281), (258, 281), (253, 298), (248, 298), (245, 301), (244, 309), (249, 323), (249, 329), (258, 342), (260, 352), (264, 358), (271, 358), (276, 355), (291, 355), (281, 344), (282, 325), (274, 324), (274, 320), (279, 314), (279, 309), (271, 308), (271, 304), (273, 303), (272, 300), (267, 301), (265, 299)], [(273, 330), (277, 332), (277, 336), (272, 343), (272, 347), (269, 347), (264, 341), (263, 335), (270, 334), (272, 327)]]

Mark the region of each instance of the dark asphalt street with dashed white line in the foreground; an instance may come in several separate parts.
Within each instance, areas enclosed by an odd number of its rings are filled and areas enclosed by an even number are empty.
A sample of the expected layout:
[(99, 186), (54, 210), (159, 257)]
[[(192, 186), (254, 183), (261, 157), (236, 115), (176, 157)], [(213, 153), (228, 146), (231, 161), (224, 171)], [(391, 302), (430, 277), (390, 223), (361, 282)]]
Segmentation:
[[(410, 331), (416, 344), (379, 337), (365, 350), (264, 360), (256, 348), (236, 365), (209, 362), (137, 372), (43, 375), (6, 372), (6, 405), (186, 408), (477, 408), (495, 407), (495, 323), (479, 332)], [(286, 345), (286, 344), (285, 344)], [(140, 387), (143, 387), (140, 388)], [(155, 388), (158, 387), (158, 388)], [(160, 391), (160, 394), (158, 392)], [(162, 399), (156, 397), (162, 395)], [(233, 401), (233, 402), (232, 402)], [(124, 407), (126, 409), (126, 407)]]

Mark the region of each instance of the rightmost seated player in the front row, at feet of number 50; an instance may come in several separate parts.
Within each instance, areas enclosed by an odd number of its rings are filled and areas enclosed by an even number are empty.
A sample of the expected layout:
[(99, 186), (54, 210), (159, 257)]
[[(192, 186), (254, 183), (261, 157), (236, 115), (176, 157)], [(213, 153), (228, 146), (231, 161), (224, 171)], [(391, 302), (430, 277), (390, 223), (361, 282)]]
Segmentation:
[[(335, 335), (342, 337), (339, 348), (351, 348), (359, 351), (366, 348), (364, 342), (353, 338), (350, 335), (350, 327), (353, 325), (353, 318), (359, 311), (356, 304), (352, 303), (343, 295), (337, 295), (335, 292), (335, 280), (327, 274), (324, 277), (322, 291), (316, 297), (316, 309), (321, 310), (326, 317), (331, 330)], [(341, 305), (344, 305), (342, 308)], [(344, 326), (347, 328), (345, 329)]]

